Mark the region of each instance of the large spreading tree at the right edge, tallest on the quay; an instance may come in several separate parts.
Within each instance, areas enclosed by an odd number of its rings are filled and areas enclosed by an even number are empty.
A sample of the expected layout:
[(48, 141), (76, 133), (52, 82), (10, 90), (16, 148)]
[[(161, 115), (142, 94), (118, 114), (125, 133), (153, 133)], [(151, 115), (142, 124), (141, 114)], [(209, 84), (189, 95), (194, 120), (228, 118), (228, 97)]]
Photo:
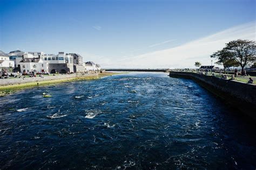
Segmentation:
[(226, 44), (225, 49), (232, 54), (232, 58), (241, 66), (241, 72), (249, 63), (256, 61), (255, 42), (250, 40), (234, 40)]

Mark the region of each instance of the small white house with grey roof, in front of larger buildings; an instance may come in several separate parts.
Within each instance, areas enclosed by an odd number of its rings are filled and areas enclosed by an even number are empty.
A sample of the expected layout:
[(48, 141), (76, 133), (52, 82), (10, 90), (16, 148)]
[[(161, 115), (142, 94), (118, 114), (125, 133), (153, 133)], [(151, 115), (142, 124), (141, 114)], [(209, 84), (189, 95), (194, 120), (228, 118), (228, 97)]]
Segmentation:
[(48, 63), (39, 58), (24, 58), (20, 62), (22, 73), (49, 73)]

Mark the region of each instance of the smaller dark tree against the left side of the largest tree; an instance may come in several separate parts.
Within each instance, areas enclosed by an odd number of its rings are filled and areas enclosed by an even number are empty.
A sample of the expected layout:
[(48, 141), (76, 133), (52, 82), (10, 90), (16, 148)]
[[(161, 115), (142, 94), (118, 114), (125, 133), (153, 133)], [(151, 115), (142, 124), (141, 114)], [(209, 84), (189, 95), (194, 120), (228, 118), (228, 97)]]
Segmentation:
[(223, 65), (224, 74), (226, 74), (226, 68), (239, 66), (239, 63), (235, 59), (233, 59), (232, 53), (225, 48), (213, 53), (211, 55), (211, 58), (216, 58), (218, 61), (215, 63), (217, 63), (218, 65)]

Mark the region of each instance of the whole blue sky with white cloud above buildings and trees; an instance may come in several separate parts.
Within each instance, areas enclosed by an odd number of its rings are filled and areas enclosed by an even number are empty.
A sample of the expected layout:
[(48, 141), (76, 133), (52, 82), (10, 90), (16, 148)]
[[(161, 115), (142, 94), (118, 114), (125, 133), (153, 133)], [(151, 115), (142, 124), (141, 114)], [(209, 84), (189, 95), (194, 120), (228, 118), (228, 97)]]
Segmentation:
[(79, 53), (103, 68), (211, 65), (228, 41), (255, 41), (255, 3), (0, 0), (0, 50)]

